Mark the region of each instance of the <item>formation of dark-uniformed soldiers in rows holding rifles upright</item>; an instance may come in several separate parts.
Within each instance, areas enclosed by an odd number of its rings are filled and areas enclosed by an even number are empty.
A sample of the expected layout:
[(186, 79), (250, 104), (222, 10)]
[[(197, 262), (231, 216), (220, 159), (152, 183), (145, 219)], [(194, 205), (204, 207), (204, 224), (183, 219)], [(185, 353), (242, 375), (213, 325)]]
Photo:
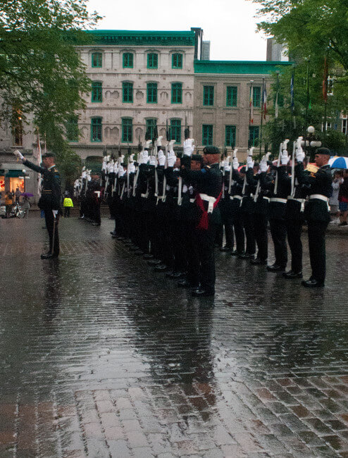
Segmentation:
[[(194, 140), (176, 156), (174, 140), (147, 141), (137, 154), (115, 160), (104, 156), (99, 174), (84, 170), (75, 182), (80, 217), (100, 224), (104, 197), (115, 220), (112, 237), (147, 259), (154, 270), (191, 287), (195, 296), (215, 293), (214, 247), (254, 266), (302, 278), (302, 225), (308, 224), (312, 275), (305, 287), (325, 281), (325, 230), (330, 221), (328, 199), (332, 175), (330, 150), (316, 151), (316, 167), (306, 168), (304, 141), (299, 137), (288, 155), (285, 140), (278, 160), (269, 154), (256, 163), (249, 149), (240, 166), (237, 149), (221, 161), (216, 147), (194, 154)], [(275, 262), (268, 265), (268, 227)], [(223, 233), (225, 246), (223, 247)], [(291, 268), (287, 266), (287, 243)]]

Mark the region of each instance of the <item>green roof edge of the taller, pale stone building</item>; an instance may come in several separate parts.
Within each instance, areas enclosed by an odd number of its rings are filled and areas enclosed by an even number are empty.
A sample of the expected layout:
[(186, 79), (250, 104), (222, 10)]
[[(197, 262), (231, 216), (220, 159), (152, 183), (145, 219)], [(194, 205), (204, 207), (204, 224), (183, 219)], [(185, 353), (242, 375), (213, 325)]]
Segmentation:
[(87, 30), (97, 44), (194, 46), (194, 32), (159, 30)]

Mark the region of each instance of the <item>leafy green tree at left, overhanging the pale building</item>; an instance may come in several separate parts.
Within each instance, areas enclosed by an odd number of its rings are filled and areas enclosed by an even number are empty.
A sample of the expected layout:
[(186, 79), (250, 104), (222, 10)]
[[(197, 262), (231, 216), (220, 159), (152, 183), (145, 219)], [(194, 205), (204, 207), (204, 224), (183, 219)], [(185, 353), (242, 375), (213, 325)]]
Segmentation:
[(74, 44), (99, 20), (86, 0), (0, 0), (0, 121), (27, 122), (46, 135), (58, 159), (70, 156), (65, 125), (85, 107), (91, 82)]

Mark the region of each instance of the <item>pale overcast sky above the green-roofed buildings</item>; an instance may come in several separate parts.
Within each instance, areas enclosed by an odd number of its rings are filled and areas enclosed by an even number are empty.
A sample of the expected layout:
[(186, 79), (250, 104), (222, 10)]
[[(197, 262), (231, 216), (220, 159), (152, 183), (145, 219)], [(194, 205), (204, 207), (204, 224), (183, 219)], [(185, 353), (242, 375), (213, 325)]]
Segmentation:
[(256, 4), (247, 0), (89, 0), (100, 30), (190, 30), (201, 27), (214, 61), (266, 61), (256, 32)]

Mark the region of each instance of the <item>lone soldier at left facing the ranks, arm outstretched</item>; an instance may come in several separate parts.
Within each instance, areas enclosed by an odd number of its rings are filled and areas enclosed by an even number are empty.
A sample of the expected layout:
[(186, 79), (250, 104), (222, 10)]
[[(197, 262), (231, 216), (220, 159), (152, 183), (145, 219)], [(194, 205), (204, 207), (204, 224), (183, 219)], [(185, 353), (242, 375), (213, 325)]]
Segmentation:
[(20, 151), (14, 151), (15, 156), (23, 161), (23, 164), (37, 173), (41, 173), (42, 192), (39, 199), (39, 208), (44, 210), (46, 228), (49, 232), (49, 252), (42, 254), (41, 259), (54, 259), (59, 254), (59, 236), (58, 236), (58, 219), (61, 202), (61, 177), (55, 164), (55, 156), (52, 153), (46, 153), (42, 156), (44, 167), (35, 165), (26, 161)]

